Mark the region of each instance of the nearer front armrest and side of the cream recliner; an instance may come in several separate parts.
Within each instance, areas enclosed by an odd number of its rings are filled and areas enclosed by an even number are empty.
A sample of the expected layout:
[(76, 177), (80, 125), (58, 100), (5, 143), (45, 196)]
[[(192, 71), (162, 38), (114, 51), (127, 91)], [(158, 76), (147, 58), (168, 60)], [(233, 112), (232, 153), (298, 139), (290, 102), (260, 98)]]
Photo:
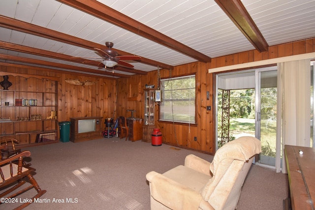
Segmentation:
[(170, 209), (198, 209), (203, 200), (199, 192), (155, 171), (149, 172), (146, 178), (150, 182), (151, 196)]

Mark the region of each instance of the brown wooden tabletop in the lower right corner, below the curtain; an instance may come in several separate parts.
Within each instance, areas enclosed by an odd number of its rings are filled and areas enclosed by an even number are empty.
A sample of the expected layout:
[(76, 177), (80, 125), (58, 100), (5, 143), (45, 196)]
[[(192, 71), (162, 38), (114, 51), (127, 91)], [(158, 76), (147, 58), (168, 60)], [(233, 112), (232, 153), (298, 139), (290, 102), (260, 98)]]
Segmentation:
[(284, 153), (292, 210), (314, 210), (315, 149), (285, 145)]

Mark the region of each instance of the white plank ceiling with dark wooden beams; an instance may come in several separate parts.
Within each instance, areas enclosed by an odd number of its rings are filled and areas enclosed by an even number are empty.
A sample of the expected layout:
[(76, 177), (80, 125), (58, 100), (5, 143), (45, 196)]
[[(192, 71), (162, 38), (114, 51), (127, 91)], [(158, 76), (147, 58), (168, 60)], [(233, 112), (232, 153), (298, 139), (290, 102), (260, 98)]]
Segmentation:
[[(0, 65), (104, 77), (315, 37), (315, 0), (1, 0)], [(133, 68), (99, 66), (95, 48)], [(85, 59), (81, 59), (85, 58)]]

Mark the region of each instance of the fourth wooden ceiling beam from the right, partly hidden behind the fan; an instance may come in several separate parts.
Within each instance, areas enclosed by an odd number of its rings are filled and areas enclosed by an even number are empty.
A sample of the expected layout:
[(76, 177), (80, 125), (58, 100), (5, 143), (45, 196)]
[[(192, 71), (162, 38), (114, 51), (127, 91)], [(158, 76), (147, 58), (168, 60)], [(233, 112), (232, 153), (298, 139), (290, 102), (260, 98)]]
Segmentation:
[[(61, 60), (66, 60), (66, 61), (70, 61), (70, 62), (84, 63), (87, 65), (93, 65), (93, 66), (99, 65), (99, 62), (95, 61), (95, 60), (87, 60), (87, 59), (76, 60), (76, 59), (73, 59), (71, 56), (64, 55), (61, 53), (55, 53), (55, 52), (51, 52), (51, 51), (47, 51), (47, 50), (41, 50), (41, 49), (37, 49), (37, 48), (33, 48), (33, 47), (27, 47), (27, 46), (12, 44), (12, 43), (3, 42), (3, 41), (0, 41), (0, 48), (7, 49), (7, 50), (13, 50), (13, 51), (17, 51), (17, 52), (22, 52), (22, 53), (28, 53), (28, 54), (37, 55), (37, 56), (44, 56), (44, 57), (53, 58), (53, 59), (61, 59)], [(57, 66), (58, 66), (58, 64), (59, 63), (56, 63)], [(73, 66), (73, 68), (75, 68), (75, 66)], [(130, 69), (130, 68), (122, 67), (122, 66), (115, 66), (114, 69), (119, 70), (119, 71), (132, 73), (132, 74), (141, 74), (141, 75), (147, 75), (148, 74), (148, 72), (146, 72), (146, 71), (141, 71), (141, 70), (137, 70), (137, 69)]]

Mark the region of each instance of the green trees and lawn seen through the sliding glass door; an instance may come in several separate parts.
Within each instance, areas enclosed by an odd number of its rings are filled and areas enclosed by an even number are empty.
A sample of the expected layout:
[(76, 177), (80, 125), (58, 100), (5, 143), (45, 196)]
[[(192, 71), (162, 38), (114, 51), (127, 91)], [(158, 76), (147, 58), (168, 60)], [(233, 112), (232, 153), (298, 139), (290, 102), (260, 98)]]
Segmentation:
[[(262, 154), (276, 156), (277, 88), (262, 88), (260, 101)], [(218, 91), (218, 147), (222, 142), (222, 90)], [(229, 141), (240, 136), (255, 136), (255, 90), (230, 90)], [(226, 137), (225, 137), (226, 138)]]

